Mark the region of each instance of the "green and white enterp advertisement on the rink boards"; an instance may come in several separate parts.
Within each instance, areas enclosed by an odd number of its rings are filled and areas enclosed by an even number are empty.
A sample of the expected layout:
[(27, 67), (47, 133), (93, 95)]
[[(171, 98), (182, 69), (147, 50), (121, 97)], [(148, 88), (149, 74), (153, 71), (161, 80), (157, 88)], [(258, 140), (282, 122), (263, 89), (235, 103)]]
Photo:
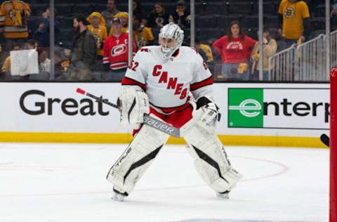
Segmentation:
[[(265, 85), (264, 85), (265, 86)], [(227, 89), (228, 128), (329, 130), (329, 89)]]

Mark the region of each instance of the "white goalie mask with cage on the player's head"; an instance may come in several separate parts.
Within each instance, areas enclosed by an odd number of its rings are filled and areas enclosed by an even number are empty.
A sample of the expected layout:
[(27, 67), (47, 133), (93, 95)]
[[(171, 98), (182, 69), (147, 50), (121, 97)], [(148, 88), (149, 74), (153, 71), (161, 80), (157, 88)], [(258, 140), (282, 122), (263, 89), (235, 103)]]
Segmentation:
[(184, 31), (179, 25), (170, 22), (161, 28), (159, 32), (159, 44), (164, 58), (170, 58), (173, 53), (183, 44)]

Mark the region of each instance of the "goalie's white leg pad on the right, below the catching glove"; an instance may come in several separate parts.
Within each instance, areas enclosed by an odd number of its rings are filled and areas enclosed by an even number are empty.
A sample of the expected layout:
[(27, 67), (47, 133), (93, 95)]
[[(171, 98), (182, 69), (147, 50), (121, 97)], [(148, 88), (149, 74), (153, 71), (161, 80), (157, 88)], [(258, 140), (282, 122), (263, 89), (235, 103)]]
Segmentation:
[(232, 168), (219, 138), (199, 124), (189, 127), (184, 138), (201, 178), (216, 192), (232, 190), (242, 175)]

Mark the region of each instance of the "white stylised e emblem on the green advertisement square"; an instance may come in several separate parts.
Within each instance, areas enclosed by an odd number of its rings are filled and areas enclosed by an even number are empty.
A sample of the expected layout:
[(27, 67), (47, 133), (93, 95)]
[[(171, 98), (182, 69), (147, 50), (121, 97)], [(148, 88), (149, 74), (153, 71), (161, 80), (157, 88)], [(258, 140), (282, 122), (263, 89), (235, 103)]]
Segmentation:
[(242, 101), (239, 105), (230, 105), (230, 110), (239, 110), (245, 117), (257, 117), (260, 115), (262, 106), (257, 100), (247, 99)]

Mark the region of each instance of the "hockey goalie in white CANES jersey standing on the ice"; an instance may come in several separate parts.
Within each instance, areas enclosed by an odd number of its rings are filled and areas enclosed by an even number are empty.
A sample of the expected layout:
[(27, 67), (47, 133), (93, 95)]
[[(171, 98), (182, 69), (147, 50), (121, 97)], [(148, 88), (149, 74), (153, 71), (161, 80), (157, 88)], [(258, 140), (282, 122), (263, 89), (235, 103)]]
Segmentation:
[(220, 119), (213, 100), (213, 77), (193, 48), (181, 46), (183, 30), (174, 23), (161, 28), (159, 46), (145, 46), (133, 58), (119, 93), (121, 124), (131, 126), (133, 141), (107, 174), (113, 200), (123, 201), (163, 148), (169, 135), (143, 123), (144, 114), (180, 129), (201, 178), (218, 197), (242, 178), (232, 168), (215, 133)]

